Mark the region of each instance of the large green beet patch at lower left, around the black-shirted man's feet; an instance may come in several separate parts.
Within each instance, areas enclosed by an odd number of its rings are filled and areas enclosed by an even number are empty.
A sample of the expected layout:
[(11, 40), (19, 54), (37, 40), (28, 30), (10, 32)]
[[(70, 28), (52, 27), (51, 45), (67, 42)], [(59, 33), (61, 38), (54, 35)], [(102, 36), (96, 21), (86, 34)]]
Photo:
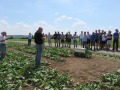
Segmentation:
[(34, 59), (24, 53), (7, 51), (0, 62), (0, 90), (24, 90), (34, 87), (42, 90), (64, 90), (71, 86), (67, 74), (59, 74), (42, 62), (41, 68), (34, 67)]

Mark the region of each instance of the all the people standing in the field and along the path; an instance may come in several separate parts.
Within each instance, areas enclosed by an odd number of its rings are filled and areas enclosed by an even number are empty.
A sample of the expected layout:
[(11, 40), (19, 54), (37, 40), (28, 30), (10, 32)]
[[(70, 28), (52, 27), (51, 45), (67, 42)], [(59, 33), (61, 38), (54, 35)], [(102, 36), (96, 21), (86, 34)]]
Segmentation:
[[(48, 38), (48, 44), (51, 46), (51, 39), (54, 39), (55, 47), (71, 47), (71, 42), (73, 40), (74, 48), (78, 46), (78, 42), (81, 43), (81, 47), (86, 48), (89, 47), (91, 50), (110, 50), (110, 46), (113, 40), (113, 48), (112, 50), (118, 51), (118, 44), (119, 44), (119, 31), (115, 29), (115, 32), (112, 34), (111, 31), (106, 33), (104, 30), (95, 30), (92, 34), (89, 32), (81, 31), (81, 34), (78, 35), (75, 32), (73, 35), (68, 32), (64, 34), (63, 32), (60, 34), (59, 32), (55, 32), (54, 35), (48, 33), (45, 36), (43, 33), (43, 28), (39, 27), (38, 30), (34, 34), (34, 42), (36, 44), (36, 56), (35, 56), (35, 66), (40, 66), (41, 56), (42, 56), (42, 47), (45, 42), (45, 38)], [(0, 60), (5, 58), (6, 54), (6, 44), (5, 40), (7, 40), (7, 33), (1, 32), (0, 36)], [(29, 33), (28, 35), (28, 45), (31, 45), (32, 34)]]

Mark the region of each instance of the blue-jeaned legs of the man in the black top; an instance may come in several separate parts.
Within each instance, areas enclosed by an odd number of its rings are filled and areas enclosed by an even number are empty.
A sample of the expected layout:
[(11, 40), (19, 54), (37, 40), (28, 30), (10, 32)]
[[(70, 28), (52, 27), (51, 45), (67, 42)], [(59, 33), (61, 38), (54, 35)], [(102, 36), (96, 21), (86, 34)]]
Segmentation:
[(35, 66), (39, 67), (40, 62), (41, 62), (41, 57), (42, 57), (42, 44), (41, 45), (36, 45), (36, 57), (35, 57)]

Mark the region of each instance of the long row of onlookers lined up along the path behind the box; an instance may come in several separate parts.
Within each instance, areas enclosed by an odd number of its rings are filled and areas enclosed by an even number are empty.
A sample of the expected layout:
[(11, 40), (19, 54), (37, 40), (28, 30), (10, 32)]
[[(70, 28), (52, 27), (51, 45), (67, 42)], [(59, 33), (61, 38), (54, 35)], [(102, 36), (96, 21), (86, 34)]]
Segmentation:
[(119, 31), (116, 29), (115, 33), (113, 34), (111, 31), (106, 33), (104, 30), (95, 30), (95, 32), (92, 32), (92, 34), (81, 31), (80, 35), (78, 35), (77, 32), (75, 32), (73, 35), (70, 34), (70, 32), (66, 34), (63, 32), (61, 34), (59, 32), (55, 32), (54, 35), (51, 35), (49, 32), (47, 38), (49, 46), (51, 46), (51, 40), (54, 39), (55, 47), (70, 48), (73, 41), (74, 48), (77, 48), (78, 42), (80, 42), (82, 48), (89, 47), (91, 50), (110, 50), (113, 39), (112, 50), (118, 51)]

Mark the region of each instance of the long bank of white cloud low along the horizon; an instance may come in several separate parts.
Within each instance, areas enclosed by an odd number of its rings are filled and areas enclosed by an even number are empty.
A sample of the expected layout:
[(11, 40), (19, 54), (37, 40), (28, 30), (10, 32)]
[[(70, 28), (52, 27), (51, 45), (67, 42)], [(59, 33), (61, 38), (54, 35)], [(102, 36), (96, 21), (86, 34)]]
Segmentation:
[[(104, 29), (106, 31), (114, 30), (116, 27), (114, 26), (108, 26), (108, 27), (90, 27), (86, 24), (83, 20), (80, 20), (78, 18), (69, 17), (67, 15), (62, 15), (55, 20), (53, 20), (53, 23), (49, 24), (47, 21), (36, 21), (34, 23), (27, 24), (24, 22), (18, 22), (15, 24), (10, 24), (6, 20), (1, 19), (0, 20), (0, 31), (6, 31), (9, 35), (28, 35), (29, 32), (34, 34), (38, 27), (43, 27), (43, 32), (47, 34), (50, 32), (51, 34), (54, 34), (55, 31), (59, 32), (68, 32), (70, 31), (72, 34), (76, 31), (78, 34), (80, 34), (81, 31), (89, 31), (92, 33), (96, 29)], [(118, 28), (120, 29), (120, 27)]]

